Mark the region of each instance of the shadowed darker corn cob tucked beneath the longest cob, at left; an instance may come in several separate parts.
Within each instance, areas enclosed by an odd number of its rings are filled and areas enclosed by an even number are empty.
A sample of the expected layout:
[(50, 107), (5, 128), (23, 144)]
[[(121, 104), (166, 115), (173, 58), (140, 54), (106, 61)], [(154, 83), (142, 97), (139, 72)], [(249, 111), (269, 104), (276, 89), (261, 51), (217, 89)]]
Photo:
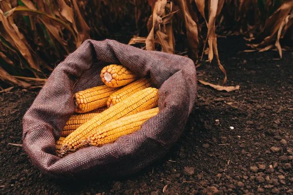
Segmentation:
[(68, 136), (69, 134), (74, 132), (74, 130), (76, 130), (79, 126), (84, 124), (86, 121), (97, 116), (99, 113), (102, 113), (106, 109), (107, 107), (104, 106), (102, 108), (97, 108), (96, 110), (90, 111), (88, 113), (71, 115), (71, 117), (67, 120), (66, 125), (63, 127), (61, 136)]

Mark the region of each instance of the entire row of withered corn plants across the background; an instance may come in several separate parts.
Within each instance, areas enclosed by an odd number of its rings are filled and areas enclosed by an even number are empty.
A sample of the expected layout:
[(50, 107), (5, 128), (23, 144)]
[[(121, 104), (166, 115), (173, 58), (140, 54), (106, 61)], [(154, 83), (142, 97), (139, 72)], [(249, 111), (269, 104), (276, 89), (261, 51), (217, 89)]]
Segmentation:
[(293, 0), (1, 0), (0, 79), (40, 86), (85, 39), (115, 39), (115, 28), (124, 33), (129, 25), (137, 32), (128, 44), (187, 49), (198, 64), (215, 58), (225, 83), (217, 34), (241, 34), (246, 52), (272, 49), (282, 58), (293, 39)]

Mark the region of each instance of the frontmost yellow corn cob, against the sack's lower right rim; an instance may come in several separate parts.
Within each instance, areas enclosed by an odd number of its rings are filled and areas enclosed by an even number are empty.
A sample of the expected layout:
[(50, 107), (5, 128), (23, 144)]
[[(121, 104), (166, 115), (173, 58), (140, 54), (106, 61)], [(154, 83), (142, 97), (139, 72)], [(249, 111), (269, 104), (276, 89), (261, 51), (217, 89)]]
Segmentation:
[(88, 138), (89, 145), (102, 146), (107, 143), (112, 143), (118, 139), (118, 137), (131, 134), (139, 130), (140, 126), (147, 119), (157, 115), (158, 113), (159, 108), (153, 108), (110, 122), (90, 134)]

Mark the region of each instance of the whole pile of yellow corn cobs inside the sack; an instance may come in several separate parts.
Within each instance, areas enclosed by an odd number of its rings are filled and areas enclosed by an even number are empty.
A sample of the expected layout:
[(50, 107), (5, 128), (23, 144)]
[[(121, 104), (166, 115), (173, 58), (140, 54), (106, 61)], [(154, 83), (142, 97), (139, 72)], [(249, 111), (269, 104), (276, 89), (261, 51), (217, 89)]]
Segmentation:
[(56, 142), (63, 157), (86, 146), (102, 146), (133, 133), (159, 113), (158, 89), (149, 78), (138, 78), (122, 65), (103, 68), (105, 85), (75, 93), (75, 112)]

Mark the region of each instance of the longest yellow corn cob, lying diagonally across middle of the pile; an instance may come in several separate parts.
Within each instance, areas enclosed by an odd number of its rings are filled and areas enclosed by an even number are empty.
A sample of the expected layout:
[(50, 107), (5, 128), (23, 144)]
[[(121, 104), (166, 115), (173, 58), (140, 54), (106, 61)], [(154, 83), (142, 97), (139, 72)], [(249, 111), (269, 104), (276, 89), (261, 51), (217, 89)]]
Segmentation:
[(155, 107), (158, 104), (158, 98), (158, 90), (148, 87), (111, 106), (67, 136), (63, 140), (60, 156), (64, 156), (66, 153), (73, 152), (86, 145), (88, 136), (97, 128), (121, 117), (133, 115)]

